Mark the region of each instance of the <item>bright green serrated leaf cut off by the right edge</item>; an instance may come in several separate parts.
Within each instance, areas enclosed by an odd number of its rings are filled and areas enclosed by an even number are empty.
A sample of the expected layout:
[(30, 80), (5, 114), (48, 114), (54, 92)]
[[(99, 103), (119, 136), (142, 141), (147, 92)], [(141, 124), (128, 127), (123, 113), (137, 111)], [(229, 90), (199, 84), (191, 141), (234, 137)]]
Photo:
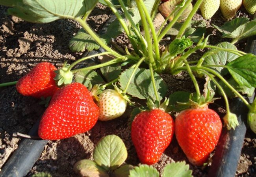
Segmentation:
[(227, 64), (228, 71), (240, 86), (256, 87), (256, 56), (243, 55)]

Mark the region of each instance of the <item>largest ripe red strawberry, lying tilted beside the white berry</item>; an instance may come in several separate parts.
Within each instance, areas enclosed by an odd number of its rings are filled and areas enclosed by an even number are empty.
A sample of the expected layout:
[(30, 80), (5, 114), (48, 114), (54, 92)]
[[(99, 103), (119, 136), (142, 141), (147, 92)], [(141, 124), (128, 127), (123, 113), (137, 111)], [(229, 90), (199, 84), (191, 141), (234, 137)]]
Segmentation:
[(42, 139), (57, 140), (90, 130), (97, 122), (99, 108), (91, 93), (80, 83), (56, 91), (39, 124)]

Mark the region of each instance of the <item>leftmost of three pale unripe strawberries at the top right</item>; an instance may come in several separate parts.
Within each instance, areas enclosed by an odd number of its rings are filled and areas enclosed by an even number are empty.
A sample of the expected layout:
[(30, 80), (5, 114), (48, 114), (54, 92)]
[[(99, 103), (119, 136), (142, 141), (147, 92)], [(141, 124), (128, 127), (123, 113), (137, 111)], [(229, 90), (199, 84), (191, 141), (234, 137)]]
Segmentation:
[(200, 5), (200, 11), (204, 19), (211, 18), (219, 9), (220, 0), (204, 0)]

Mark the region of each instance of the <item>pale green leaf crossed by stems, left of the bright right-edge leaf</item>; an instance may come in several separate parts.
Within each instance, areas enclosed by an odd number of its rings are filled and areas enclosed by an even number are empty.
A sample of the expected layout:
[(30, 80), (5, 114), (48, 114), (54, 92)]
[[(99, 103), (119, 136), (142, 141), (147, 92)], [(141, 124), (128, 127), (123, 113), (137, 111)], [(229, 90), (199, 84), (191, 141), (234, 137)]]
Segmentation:
[[(224, 49), (237, 49), (236, 46), (234, 46), (233, 44), (230, 44), (229, 42), (221, 42), (217, 46)], [(229, 62), (239, 57), (236, 54), (226, 52), (226, 51), (220, 51), (218, 49), (211, 49), (206, 53), (204, 53), (204, 56), (205, 58), (202, 65), (226, 65)], [(221, 75), (226, 75), (228, 73), (227, 69), (223, 67), (211, 67), (211, 68), (221, 73)]]

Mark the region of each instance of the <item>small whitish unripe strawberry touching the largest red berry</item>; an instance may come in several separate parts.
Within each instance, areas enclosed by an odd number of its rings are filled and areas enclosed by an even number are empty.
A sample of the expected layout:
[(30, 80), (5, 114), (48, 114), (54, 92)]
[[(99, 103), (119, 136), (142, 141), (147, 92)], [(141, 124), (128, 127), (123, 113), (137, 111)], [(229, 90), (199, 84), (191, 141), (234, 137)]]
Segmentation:
[(126, 109), (126, 100), (113, 89), (106, 89), (99, 95), (98, 105), (100, 116), (98, 120), (106, 121), (120, 117)]

